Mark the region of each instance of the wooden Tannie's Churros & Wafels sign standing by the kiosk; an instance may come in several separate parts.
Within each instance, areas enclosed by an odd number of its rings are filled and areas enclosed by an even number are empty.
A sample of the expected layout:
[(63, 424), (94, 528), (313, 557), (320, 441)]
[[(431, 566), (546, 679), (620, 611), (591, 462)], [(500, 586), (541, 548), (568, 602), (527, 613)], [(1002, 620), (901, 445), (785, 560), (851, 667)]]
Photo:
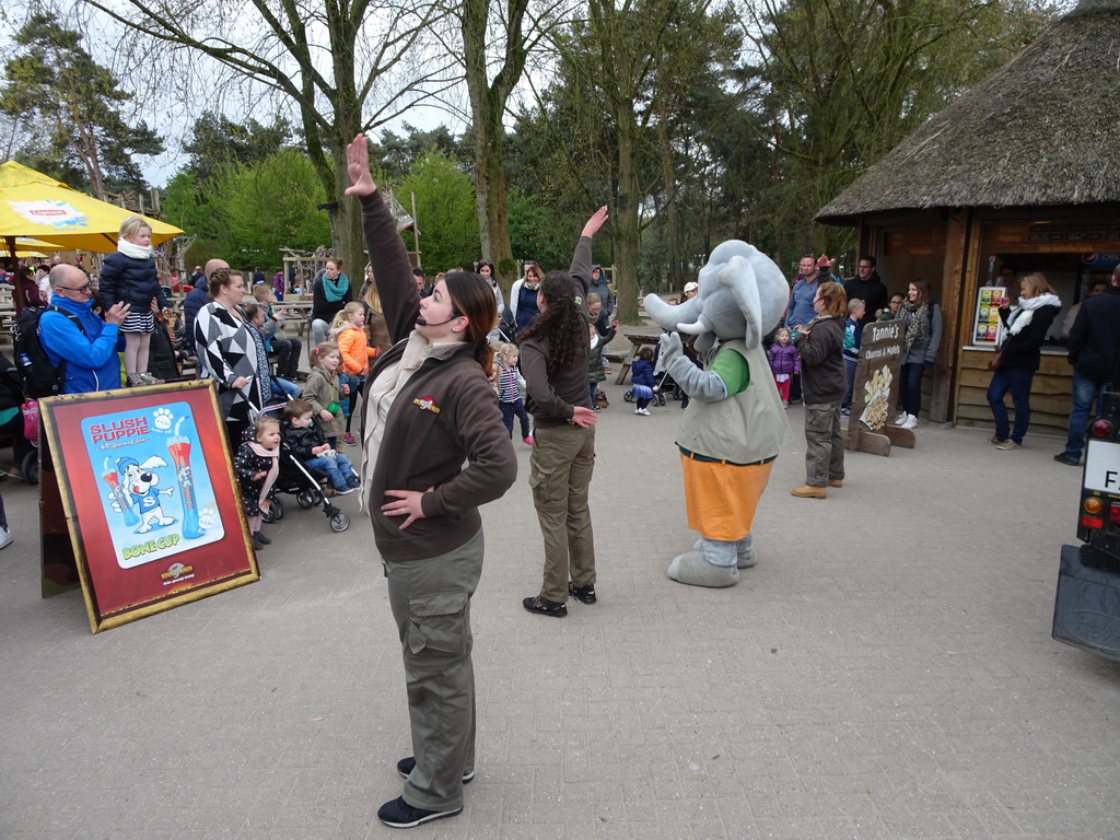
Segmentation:
[(851, 417), (844, 448), (872, 455), (890, 455), (890, 445), (914, 448), (914, 432), (892, 426), (898, 402), (898, 368), (902, 365), (906, 321), (875, 321), (864, 327), (851, 392)]

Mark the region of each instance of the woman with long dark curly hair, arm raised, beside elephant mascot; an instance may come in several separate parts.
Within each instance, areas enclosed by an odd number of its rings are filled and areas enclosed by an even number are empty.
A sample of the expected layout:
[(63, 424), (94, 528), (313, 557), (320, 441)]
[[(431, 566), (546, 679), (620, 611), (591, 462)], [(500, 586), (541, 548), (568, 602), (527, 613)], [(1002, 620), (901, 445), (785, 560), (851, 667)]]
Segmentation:
[(587, 224), (568, 272), (550, 271), (536, 292), (540, 315), (517, 336), (521, 372), (533, 416), (529, 459), (533, 505), (544, 538), (544, 582), (522, 604), (562, 618), (568, 595), (595, 603), (595, 541), (587, 492), (595, 467), (595, 422), (587, 388), (591, 237), (607, 221), (600, 207)]

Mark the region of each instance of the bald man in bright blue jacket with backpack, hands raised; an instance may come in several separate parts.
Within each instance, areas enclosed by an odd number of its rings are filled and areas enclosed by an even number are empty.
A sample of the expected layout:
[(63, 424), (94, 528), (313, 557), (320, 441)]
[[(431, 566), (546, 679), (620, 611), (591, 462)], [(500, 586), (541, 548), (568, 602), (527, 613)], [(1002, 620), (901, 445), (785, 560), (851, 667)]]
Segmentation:
[(121, 361), (116, 355), (120, 325), (129, 314), (124, 301), (115, 304), (102, 320), (93, 311), (90, 278), (73, 265), (50, 269), (50, 305), (77, 318), (81, 328), (62, 312), (47, 310), (39, 318), (39, 340), (55, 367), (66, 361), (63, 393), (81, 394), (121, 386)]

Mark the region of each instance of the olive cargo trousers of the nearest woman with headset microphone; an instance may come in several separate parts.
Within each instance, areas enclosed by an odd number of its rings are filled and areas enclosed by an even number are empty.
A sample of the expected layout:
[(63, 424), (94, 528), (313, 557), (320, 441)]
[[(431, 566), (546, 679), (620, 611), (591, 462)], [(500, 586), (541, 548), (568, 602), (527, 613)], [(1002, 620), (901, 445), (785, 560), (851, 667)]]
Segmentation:
[(470, 596), (482, 576), (483, 553), (479, 529), (446, 554), (385, 563), (417, 759), (403, 796), (426, 811), (460, 808), (463, 775), (475, 767)]

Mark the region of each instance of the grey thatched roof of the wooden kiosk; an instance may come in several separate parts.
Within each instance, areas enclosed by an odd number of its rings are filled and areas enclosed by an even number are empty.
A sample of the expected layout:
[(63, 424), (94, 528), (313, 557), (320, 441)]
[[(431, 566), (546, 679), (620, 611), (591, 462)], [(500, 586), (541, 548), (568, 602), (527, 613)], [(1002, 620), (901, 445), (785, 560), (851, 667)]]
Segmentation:
[(1120, 202), (1120, 0), (1082, 0), (816, 214)]

